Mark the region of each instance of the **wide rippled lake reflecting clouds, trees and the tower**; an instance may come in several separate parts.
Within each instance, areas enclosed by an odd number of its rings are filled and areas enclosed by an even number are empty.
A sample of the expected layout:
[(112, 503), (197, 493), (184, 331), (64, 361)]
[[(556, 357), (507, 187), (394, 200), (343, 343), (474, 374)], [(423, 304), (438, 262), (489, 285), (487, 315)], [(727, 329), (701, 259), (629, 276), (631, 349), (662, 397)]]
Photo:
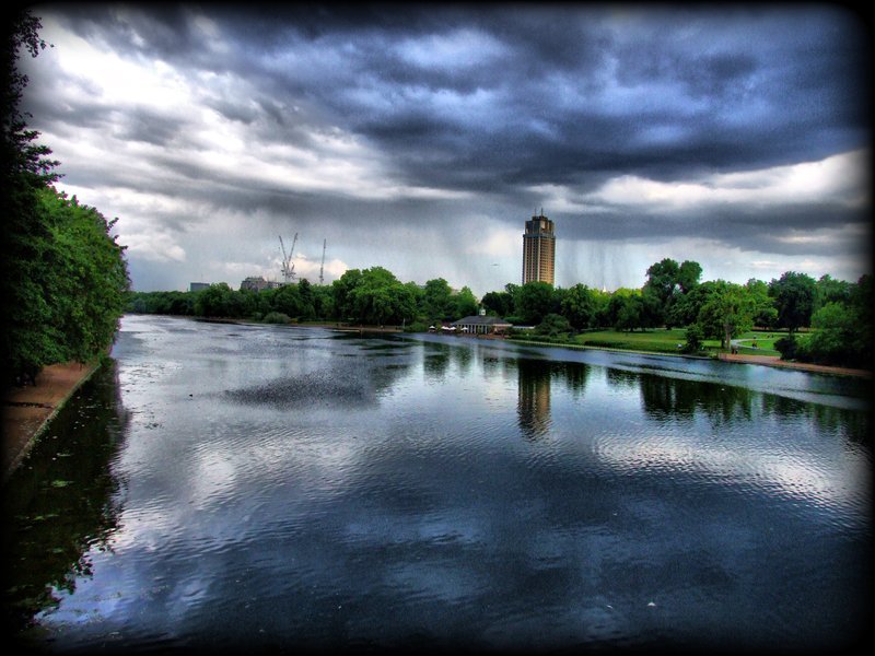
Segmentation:
[(847, 646), (871, 610), (871, 391), (126, 316), (8, 484), (14, 609), (58, 652)]

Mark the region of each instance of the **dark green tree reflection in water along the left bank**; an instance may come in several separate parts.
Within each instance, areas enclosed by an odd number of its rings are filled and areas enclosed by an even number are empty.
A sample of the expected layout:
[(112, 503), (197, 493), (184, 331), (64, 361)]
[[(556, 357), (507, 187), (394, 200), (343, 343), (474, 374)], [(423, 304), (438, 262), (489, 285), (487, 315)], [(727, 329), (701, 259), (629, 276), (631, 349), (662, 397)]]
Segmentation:
[(129, 423), (115, 361), (58, 413), (3, 494), (4, 610), (16, 633), (91, 574), (90, 550), (112, 548), (120, 482), (112, 461)]

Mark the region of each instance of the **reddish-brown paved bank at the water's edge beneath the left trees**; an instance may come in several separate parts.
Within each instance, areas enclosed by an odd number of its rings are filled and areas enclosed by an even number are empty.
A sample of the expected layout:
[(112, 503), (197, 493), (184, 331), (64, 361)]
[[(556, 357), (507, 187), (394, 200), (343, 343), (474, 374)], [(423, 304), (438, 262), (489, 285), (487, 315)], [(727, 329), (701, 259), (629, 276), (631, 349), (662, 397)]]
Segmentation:
[(100, 364), (100, 360), (89, 364), (52, 364), (39, 372), (36, 385), (7, 390), (3, 399), (4, 481), (24, 460), (58, 411), (91, 378)]

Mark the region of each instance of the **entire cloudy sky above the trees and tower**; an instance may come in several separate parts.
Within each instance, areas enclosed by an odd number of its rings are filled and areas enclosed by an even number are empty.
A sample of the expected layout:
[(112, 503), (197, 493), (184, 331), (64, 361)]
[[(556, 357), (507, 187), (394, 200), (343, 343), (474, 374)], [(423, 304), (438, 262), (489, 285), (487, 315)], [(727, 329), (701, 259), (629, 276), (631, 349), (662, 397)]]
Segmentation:
[[(60, 190), (118, 218), (132, 289), (385, 267), (478, 296), (856, 281), (871, 261), (868, 24), (841, 4), (33, 5), (22, 108)], [(298, 239), (294, 239), (294, 235)]]

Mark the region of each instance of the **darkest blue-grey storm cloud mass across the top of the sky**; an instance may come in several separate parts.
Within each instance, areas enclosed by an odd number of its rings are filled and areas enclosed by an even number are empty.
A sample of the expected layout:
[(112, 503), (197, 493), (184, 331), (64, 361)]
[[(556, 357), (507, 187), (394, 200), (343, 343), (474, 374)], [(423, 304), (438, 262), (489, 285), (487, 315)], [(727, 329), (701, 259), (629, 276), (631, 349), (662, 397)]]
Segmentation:
[[(828, 9), (219, 8), (208, 15), (242, 48), (234, 59), (192, 28), (192, 7), (77, 13), (84, 36), (121, 51), (270, 83), (271, 103), (218, 101), (230, 118), (269, 114), (281, 126), (284, 105), (318, 104), (386, 149), (409, 184), (434, 184), (434, 163), (452, 165), (440, 184), (485, 191), (485, 168), (493, 185), (606, 171), (672, 179), (819, 159), (859, 144), (868, 127), (861, 35)], [(466, 34), (497, 51), (478, 59), (471, 43), (466, 58)], [(440, 39), (452, 48), (454, 38), (459, 59), (441, 61)], [(433, 61), (405, 57), (416, 39), (424, 56), (435, 49)], [(289, 48), (331, 66), (272, 66)]]

